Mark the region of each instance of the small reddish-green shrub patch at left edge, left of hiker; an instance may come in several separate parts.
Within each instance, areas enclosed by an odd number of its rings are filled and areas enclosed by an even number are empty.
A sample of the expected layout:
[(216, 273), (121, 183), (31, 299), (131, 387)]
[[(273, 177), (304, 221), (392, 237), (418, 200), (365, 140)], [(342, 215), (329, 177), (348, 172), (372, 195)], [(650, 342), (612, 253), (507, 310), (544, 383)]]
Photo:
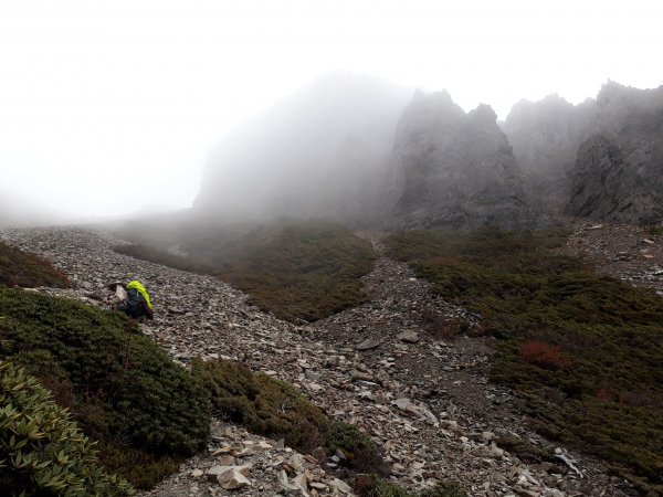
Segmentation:
[(0, 285), (67, 288), (70, 283), (49, 261), (0, 242)]

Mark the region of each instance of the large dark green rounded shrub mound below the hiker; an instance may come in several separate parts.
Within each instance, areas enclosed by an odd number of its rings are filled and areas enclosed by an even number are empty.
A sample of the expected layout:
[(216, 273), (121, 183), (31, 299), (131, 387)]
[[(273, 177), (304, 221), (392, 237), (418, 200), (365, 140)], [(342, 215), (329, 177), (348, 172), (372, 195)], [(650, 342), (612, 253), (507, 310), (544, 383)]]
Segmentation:
[(203, 387), (122, 314), (0, 287), (0, 357), (51, 389), (123, 476), (143, 459), (141, 482), (154, 483), (164, 475), (147, 469), (166, 472), (208, 440)]

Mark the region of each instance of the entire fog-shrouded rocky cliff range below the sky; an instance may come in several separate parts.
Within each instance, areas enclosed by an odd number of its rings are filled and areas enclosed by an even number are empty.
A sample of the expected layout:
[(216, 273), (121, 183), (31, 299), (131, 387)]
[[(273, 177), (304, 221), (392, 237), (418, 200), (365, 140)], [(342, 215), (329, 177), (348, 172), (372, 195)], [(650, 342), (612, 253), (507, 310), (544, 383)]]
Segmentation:
[[(513, 148), (512, 148), (513, 146)], [(335, 73), (219, 144), (194, 212), (228, 221), (532, 226), (540, 212), (663, 222), (663, 86), (523, 101), (502, 125), (445, 92)]]

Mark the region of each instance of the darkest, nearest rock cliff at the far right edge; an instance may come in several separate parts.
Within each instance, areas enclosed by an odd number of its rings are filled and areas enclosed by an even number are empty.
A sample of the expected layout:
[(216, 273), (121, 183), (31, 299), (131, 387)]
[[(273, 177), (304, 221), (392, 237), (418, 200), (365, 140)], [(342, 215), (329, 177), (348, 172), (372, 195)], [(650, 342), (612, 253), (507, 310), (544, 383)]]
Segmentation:
[(578, 149), (568, 172), (575, 215), (663, 222), (663, 86), (608, 83), (596, 102), (600, 134)]

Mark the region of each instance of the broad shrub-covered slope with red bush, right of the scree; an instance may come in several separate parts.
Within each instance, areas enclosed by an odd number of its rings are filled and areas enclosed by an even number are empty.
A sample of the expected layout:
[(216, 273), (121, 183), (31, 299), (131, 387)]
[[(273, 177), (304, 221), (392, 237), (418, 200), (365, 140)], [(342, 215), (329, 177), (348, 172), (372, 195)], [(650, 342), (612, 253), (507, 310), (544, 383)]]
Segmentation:
[(406, 232), (389, 250), (481, 314), (499, 338), (492, 379), (523, 392), (541, 432), (662, 491), (663, 300), (586, 269), (561, 254), (565, 240), (559, 231)]

